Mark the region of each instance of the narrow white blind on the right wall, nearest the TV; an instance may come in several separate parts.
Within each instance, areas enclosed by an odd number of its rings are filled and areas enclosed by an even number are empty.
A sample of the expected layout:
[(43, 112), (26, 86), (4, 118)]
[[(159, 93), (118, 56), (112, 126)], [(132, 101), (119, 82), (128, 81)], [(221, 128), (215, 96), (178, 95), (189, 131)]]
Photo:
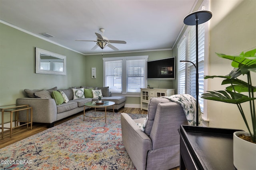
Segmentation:
[[(184, 38), (178, 47), (178, 62), (186, 60), (186, 39)], [(186, 82), (186, 64), (179, 62), (178, 64), (178, 94), (185, 94)]]

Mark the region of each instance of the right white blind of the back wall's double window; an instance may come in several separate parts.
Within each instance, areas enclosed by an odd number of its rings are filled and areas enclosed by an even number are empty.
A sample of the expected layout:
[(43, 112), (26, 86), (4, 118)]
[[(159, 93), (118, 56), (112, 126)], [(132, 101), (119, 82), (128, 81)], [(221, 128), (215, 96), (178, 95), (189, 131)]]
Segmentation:
[(145, 59), (126, 61), (126, 92), (140, 92), (145, 87)]

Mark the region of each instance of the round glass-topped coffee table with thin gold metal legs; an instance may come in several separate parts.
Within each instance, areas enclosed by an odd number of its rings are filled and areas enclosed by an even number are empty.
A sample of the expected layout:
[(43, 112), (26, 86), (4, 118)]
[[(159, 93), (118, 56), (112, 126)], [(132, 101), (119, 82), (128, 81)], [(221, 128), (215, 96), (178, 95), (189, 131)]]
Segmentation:
[[(114, 115), (114, 113), (115, 113), (114, 112), (114, 104), (115, 104), (115, 102), (110, 102), (110, 101), (102, 101), (102, 103), (97, 103), (97, 101), (87, 102), (87, 103), (84, 104), (84, 117), (85, 116), (86, 117), (91, 117), (91, 118), (104, 118), (105, 117), (105, 123), (106, 123), (106, 118), (108, 116)], [(104, 117), (96, 117), (96, 116), (92, 117), (92, 116), (85, 115), (85, 113), (86, 113), (85, 112), (85, 107), (86, 106), (90, 107), (90, 108), (94, 107), (95, 115), (96, 115), (96, 110), (105, 110), (105, 116)], [(113, 114), (107, 116), (107, 110), (110, 110), (110, 109), (107, 109), (108, 106), (113, 106)], [(102, 107), (105, 107), (105, 109), (98, 109), (98, 108), (102, 108)], [(110, 111), (112, 111), (112, 110), (110, 110)]]

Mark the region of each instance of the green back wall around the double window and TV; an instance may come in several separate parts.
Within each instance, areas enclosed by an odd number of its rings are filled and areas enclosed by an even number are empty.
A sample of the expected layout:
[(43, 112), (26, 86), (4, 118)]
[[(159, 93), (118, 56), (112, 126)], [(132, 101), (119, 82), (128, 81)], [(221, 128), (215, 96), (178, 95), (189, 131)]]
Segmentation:
[[(172, 50), (165, 51), (150, 51), (137, 53), (118, 53), (103, 55), (88, 55), (86, 56), (86, 86), (103, 86), (103, 60), (104, 57), (127, 57), (127, 56), (142, 56), (148, 55), (148, 61), (174, 57)], [(92, 67), (96, 67), (96, 78), (91, 78)], [(148, 84), (153, 88), (172, 88), (174, 80), (148, 80)], [(126, 97), (126, 104), (140, 104), (139, 97)]]

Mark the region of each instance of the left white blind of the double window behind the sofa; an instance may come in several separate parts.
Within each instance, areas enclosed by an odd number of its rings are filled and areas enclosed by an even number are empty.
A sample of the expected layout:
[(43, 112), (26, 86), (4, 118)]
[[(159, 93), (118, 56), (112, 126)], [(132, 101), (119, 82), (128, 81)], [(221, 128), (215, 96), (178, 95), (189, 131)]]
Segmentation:
[(122, 92), (122, 60), (106, 61), (106, 86), (110, 92)]

